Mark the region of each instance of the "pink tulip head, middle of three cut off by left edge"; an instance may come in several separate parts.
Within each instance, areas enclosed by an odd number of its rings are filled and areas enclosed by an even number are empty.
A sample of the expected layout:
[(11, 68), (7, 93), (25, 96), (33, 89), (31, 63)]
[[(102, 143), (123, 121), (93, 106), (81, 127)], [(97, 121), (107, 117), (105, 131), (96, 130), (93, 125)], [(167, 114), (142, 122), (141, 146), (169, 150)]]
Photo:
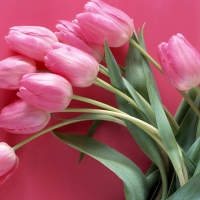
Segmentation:
[(23, 100), (4, 107), (0, 113), (0, 127), (10, 133), (31, 134), (41, 131), (49, 122), (50, 114)]

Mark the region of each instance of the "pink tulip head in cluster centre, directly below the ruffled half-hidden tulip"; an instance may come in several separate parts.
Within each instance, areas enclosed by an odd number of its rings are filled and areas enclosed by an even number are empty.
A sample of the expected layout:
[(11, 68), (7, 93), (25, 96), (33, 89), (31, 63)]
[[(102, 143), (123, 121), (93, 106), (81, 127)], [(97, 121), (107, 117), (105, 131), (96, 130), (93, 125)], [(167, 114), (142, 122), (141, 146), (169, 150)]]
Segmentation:
[(45, 56), (45, 65), (49, 70), (64, 76), (76, 87), (88, 87), (94, 82), (99, 70), (95, 58), (68, 45), (59, 48), (54, 43), (53, 48)]

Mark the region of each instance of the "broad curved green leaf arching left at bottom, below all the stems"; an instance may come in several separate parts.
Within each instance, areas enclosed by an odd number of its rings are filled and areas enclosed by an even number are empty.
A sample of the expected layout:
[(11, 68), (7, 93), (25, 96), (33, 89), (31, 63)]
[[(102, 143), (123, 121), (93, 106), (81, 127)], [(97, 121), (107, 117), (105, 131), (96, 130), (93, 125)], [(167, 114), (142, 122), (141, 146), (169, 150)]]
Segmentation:
[(147, 179), (130, 159), (88, 136), (56, 132), (53, 134), (70, 147), (93, 157), (113, 171), (124, 183), (126, 200), (146, 199)]

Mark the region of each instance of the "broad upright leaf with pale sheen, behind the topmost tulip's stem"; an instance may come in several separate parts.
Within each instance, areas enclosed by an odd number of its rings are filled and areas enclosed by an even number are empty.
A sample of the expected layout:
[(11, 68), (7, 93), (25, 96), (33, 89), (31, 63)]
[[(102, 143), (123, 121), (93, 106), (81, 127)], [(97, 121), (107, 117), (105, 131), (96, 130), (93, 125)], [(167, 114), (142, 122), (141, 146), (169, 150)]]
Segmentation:
[[(136, 33), (132, 39), (138, 43)], [(140, 95), (149, 102), (149, 97), (146, 87), (146, 79), (142, 66), (142, 55), (133, 45), (129, 44), (129, 49), (125, 64), (125, 78), (140, 93)]]

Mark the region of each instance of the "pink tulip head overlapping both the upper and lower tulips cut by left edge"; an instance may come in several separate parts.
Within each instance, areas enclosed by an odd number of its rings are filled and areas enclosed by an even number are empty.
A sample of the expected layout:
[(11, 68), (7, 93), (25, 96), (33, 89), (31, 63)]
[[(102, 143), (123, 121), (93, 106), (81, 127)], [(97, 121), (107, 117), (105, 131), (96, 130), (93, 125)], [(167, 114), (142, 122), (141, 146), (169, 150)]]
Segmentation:
[(24, 101), (50, 112), (64, 110), (72, 98), (72, 86), (62, 76), (32, 73), (19, 81), (17, 95)]

